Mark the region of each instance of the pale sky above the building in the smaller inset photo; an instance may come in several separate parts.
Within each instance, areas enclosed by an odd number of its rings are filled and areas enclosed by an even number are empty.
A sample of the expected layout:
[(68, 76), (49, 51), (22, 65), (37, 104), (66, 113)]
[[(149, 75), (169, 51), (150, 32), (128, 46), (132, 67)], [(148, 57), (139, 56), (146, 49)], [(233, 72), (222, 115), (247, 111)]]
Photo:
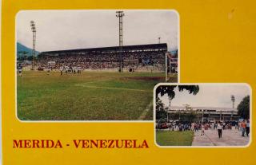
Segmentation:
[[(197, 95), (189, 94), (186, 90), (178, 92), (178, 88), (175, 88), (172, 106), (189, 104), (192, 107), (232, 108), (230, 96), (234, 95), (236, 108), (243, 97), (250, 95), (250, 88), (244, 84), (200, 84), (199, 88)], [(161, 100), (169, 106), (168, 96), (162, 96)]]

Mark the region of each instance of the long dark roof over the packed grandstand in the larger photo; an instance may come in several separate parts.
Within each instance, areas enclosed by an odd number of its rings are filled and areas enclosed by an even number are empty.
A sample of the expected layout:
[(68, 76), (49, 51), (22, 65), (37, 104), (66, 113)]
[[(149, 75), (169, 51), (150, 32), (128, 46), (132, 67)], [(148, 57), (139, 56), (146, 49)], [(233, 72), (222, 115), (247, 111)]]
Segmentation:
[[(81, 53), (81, 52), (92, 52), (92, 51), (119, 51), (119, 46), (112, 47), (100, 47), (100, 48), (89, 48), (89, 49), (66, 49), (66, 50), (54, 50), (54, 51), (46, 51), (45, 53)], [(143, 50), (143, 49), (162, 49), (167, 51), (167, 44), (149, 44), (149, 45), (124, 45), (122, 46), (122, 51), (131, 51), (131, 50)]]

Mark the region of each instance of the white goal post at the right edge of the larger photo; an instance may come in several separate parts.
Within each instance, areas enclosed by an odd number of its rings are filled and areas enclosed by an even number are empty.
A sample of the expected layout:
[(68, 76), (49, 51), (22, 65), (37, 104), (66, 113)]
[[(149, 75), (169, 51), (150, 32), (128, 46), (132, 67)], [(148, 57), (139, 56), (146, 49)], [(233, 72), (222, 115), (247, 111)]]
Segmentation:
[(165, 63), (166, 82), (168, 82), (170, 80), (170, 77), (173, 74), (177, 73), (178, 53), (166, 52)]

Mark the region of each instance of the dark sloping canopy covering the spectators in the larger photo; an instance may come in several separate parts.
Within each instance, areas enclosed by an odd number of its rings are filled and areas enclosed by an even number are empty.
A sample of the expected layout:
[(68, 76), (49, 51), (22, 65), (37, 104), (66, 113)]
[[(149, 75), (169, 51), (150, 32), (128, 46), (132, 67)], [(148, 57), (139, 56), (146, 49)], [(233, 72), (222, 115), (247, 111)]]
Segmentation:
[[(100, 48), (89, 48), (89, 49), (67, 49), (67, 50), (55, 50), (42, 52), (38, 56), (47, 55), (62, 55), (62, 54), (75, 54), (75, 53), (118, 53), (120, 51), (119, 46), (112, 47), (100, 47)], [(149, 45), (125, 45), (122, 46), (122, 52), (136, 52), (136, 51), (167, 51), (167, 44), (149, 44)]]

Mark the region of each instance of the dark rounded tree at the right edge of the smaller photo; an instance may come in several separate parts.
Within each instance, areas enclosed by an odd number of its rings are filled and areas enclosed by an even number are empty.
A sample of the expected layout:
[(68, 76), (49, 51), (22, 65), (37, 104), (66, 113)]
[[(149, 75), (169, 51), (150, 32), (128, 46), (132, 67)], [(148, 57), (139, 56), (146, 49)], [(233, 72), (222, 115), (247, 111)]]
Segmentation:
[(238, 104), (238, 115), (243, 119), (250, 118), (250, 96), (245, 96)]

